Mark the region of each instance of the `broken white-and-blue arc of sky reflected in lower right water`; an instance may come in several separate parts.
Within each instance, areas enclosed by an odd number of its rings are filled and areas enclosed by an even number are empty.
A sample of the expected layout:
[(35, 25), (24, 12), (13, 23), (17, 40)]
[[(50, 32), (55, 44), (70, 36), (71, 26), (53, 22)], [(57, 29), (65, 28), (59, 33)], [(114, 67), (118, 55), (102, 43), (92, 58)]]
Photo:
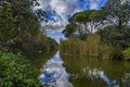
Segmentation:
[(104, 71), (98, 69), (84, 67), (80, 73), (73, 75), (76, 79), (78, 77), (87, 77), (89, 80), (101, 79), (107, 87), (119, 87), (119, 83), (116, 79), (112, 79), (105, 75)]

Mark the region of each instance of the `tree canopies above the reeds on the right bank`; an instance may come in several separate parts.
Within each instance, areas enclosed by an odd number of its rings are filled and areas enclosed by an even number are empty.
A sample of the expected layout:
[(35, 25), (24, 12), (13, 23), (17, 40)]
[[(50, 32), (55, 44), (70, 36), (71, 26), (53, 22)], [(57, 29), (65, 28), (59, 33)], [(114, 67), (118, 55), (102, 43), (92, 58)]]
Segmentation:
[(130, 0), (107, 0), (100, 10), (75, 13), (63, 34), (68, 38), (83, 38), (99, 34), (102, 41), (122, 48), (130, 46)]

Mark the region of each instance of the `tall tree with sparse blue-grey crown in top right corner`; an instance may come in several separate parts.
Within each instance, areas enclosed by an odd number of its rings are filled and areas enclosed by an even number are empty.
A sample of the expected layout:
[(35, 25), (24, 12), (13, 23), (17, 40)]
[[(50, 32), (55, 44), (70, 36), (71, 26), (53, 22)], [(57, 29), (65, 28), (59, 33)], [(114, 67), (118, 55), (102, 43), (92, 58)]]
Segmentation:
[(120, 30), (130, 22), (130, 0), (107, 0), (102, 12), (107, 25), (114, 25)]

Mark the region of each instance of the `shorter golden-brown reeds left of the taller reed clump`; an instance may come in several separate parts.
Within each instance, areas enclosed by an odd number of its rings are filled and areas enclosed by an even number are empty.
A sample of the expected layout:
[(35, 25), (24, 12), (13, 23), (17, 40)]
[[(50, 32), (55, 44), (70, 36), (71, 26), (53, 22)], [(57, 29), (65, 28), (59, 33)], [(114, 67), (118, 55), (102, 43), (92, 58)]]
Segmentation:
[(66, 54), (86, 54), (86, 51), (83, 51), (86, 46), (86, 42), (82, 40), (69, 39), (60, 44), (60, 50), (61, 53)]

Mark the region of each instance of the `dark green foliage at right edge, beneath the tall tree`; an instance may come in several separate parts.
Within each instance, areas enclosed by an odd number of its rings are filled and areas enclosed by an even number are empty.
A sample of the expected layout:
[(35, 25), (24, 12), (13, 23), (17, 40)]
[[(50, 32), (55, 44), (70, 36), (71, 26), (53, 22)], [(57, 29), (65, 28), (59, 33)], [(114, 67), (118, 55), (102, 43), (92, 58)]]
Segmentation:
[(127, 48), (130, 46), (130, 28), (122, 27), (118, 30), (114, 26), (107, 26), (104, 29), (99, 29), (98, 34), (101, 36), (103, 42), (107, 45)]

